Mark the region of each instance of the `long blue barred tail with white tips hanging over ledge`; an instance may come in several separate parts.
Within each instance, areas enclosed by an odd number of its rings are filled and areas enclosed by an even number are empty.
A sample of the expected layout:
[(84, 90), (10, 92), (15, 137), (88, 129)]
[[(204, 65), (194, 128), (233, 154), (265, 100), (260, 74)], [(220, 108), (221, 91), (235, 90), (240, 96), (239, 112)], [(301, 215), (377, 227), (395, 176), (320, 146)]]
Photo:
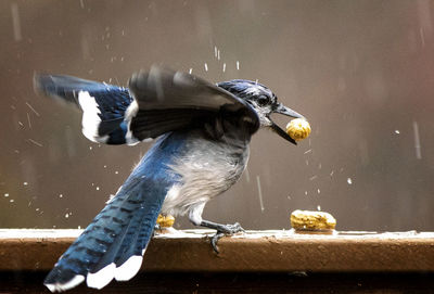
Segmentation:
[(158, 139), (116, 196), (59, 259), (44, 280), (52, 292), (68, 290), (85, 279), (88, 286), (101, 289), (113, 279), (126, 281), (138, 272), (167, 191), (178, 180), (168, 167), (177, 145), (165, 144), (167, 137)]

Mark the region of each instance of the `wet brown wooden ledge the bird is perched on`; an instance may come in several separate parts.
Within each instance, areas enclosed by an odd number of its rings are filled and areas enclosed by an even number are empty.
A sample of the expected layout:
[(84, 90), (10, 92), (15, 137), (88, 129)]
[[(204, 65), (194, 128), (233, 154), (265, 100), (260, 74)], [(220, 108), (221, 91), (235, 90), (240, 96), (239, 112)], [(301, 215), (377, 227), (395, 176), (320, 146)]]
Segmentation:
[[(0, 230), (0, 270), (49, 270), (81, 230)], [(431, 271), (434, 232), (246, 231), (210, 247), (207, 230), (170, 231), (148, 247), (146, 271)]]

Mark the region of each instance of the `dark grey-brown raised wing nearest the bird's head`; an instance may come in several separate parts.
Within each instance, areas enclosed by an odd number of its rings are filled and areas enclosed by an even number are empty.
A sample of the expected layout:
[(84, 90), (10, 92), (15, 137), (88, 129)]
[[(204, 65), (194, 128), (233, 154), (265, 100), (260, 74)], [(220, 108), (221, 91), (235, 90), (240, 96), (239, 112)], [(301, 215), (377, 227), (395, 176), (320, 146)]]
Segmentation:
[(129, 80), (135, 99), (128, 107), (130, 136), (142, 141), (187, 127), (215, 126), (228, 119), (252, 135), (259, 128), (256, 112), (242, 99), (196, 76), (153, 66)]

